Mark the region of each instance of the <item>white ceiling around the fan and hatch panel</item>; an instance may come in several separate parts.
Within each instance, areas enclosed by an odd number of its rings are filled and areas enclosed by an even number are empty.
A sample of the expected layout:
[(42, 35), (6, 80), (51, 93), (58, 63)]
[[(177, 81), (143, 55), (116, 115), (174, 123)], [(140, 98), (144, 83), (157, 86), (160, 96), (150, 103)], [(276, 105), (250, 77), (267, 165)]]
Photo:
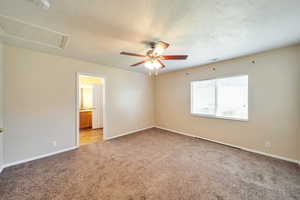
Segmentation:
[(300, 42), (299, 0), (49, 0), (41, 9), (29, 0), (0, 0), (0, 14), (70, 36), (65, 49), (7, 40), (14, 45), (99, 64), (132, 68), (145, 41), (163, 40), (165, 71), (198, 66)]

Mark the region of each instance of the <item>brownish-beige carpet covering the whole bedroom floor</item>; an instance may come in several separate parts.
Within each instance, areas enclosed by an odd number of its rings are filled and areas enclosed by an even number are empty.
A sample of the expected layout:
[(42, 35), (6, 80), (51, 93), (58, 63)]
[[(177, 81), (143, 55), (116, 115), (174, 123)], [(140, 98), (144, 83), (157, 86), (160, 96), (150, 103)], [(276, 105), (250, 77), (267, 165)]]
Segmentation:
[(300, 168), (150, 129), (5, 169), (0, 199), (296, 200)]

